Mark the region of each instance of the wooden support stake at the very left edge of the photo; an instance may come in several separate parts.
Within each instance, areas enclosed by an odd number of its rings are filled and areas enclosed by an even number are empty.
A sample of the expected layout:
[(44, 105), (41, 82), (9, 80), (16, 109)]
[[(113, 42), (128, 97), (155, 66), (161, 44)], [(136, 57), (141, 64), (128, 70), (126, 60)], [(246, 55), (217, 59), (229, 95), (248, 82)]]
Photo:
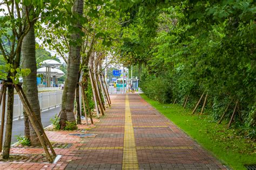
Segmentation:
[(6, 86), (5, 83), (3, 83), (2, 87), (2, 119), (1, 119), (1, 134), (0, 134), (0, 152), (2, 152), (3, 147), (3, 136), (4, 136), (4, 118), (5, 118), (5, 98), (6, 98)]

